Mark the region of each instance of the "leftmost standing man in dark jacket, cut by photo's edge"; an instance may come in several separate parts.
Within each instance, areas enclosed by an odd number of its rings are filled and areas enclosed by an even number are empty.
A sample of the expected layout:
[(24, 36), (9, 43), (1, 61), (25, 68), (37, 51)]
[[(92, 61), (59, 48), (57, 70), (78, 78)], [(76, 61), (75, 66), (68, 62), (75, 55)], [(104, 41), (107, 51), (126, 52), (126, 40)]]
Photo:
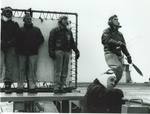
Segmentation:
[(1, 18), (1, 50), (4, 53), (5, 63), (5, 92), (10, 93), (11, 84), (13, 82), (13, 65), (17, 60), (15, 55), (16, 38), (19, 32), (19, 25), (12, 20), (12, 8), (5, 7), (2, 10)]

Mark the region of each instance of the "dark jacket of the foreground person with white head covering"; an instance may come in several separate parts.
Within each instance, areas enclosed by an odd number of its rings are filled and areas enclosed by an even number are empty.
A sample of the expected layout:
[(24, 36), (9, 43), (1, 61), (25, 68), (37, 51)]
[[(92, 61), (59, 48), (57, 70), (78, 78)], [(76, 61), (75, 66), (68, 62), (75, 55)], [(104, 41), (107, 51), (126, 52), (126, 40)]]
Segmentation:
[(123, 92), (120, 89), (106, 89), (97, 79), (88, 86), (84, 98), (84, 112), (121, 112)]

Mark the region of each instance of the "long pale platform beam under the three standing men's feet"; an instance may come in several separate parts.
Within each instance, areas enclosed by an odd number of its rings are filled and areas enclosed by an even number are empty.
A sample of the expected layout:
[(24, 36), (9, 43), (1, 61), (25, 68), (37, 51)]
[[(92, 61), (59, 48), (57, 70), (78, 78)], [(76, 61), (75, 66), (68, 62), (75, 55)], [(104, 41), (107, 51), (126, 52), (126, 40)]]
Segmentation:
[(5, 94), (0, 93), (1, 102), (7, 101), (62, 101), (62, 100), (82, 100), (84, 94), (82, 93), (65, 93), (65, 94), (54, 94), (54, 93), (37, 93), (37, 94)]

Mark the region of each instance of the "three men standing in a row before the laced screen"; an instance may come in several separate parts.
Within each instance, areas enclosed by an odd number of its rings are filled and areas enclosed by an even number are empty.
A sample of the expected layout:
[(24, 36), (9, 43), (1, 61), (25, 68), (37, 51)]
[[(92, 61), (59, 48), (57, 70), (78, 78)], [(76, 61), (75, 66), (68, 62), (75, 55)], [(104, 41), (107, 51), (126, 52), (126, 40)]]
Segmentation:
[[(4, 54), (5, 64), (5, 92), (11, 93), (13, 83), (13, 62), (16, 58), (18, 69), (18, 93), (23, 93), (24, 79), (26, 77), (29, 84), (30, 93), (36, 93), (36, 71), (38, 61), (38, 50), (44, 42), (41, 30), (32, 23), (31, 14), (26, 12), (23, 17), (24, 25), (19, 27), (17, 22), (12, 20), (13, 13), (11, 7), (2, 10), (1, 18), (1, 50)], [(70, 29), (67, 28), (68, 17), (62, 16), (58, 21), (58, 27), (50, 32), (48, 48), (49, 56), (54, 60), (54, 92), (65, 92), (64, 87), (68, 75), (68, 64), (71, 50), (79, 58), (79, 50), (74, 42)]]

